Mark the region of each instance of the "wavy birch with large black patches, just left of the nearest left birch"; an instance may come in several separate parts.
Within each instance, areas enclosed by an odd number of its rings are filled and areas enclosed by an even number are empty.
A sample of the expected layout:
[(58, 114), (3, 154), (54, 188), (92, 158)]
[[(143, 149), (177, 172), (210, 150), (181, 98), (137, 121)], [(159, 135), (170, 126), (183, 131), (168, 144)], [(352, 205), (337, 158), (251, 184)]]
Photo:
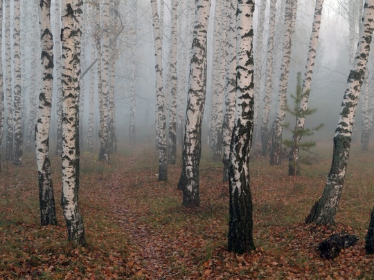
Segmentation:
[(39, 175), (40, 224), (57, 225), (55, 197), (49, 160), (49, 129), (51, 127), (53, 90), (53, 35), (51, 31), (51, 0), (39, 3), (39, 25), (42, 34), (43, 87), (39, 94), (37, 124), (35, 126), (35, 153)]

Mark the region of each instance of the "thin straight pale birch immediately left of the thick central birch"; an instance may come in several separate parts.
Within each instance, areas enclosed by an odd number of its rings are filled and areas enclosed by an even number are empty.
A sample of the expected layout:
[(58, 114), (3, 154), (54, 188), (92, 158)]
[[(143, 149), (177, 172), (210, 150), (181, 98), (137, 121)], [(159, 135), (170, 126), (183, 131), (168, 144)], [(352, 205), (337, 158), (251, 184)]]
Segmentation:
[[(177, 158), (177, 55), (178, 55), (178, 1), (172, 0), (172, 21), (170, 38), (170, 110), (169, 110), (169, 145), (168, 145), (168, 163), (175, 164)], [(168, 81), (169, 82), (169, 81)]]

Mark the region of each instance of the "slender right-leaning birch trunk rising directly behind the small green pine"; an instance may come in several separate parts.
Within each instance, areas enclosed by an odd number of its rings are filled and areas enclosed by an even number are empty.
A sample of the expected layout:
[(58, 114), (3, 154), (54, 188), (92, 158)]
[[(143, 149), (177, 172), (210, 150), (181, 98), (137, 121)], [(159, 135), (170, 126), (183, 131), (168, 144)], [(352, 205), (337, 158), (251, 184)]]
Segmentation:
[[(308, 110), (308, 100), (310, 94), (310, 87), (312, 86), (314, 62), (316, 60), (317, 44), (319, 39), (319, 28), (321, 27), (323, 0), (316, 1), (316, 7), (314, 10), (314, 19), (312, 24), (312, 34), (310, 35), (308, 59), (305, 65), (305, 74), (303, 80), (303, 88), (301, 95), (301, 115), (296, 117), (296, 130), (303, 131), (305, 127), (305, 112)], [(295, 176), (299, 175), (299, 148), (301, 142), (301, 133), (294, 134), (292, 136), (292, 148), (290, 156), (288, 158), (288, 175)]]

